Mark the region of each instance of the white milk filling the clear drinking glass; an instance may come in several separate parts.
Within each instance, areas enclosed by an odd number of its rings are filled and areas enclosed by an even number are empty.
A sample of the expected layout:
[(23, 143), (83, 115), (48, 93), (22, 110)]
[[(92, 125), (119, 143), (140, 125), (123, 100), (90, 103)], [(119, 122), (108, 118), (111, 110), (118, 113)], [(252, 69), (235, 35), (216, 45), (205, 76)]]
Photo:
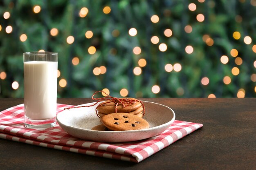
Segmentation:
[(29, 119), (56, 116), (58, 62), (24, 63), (24, 104)]

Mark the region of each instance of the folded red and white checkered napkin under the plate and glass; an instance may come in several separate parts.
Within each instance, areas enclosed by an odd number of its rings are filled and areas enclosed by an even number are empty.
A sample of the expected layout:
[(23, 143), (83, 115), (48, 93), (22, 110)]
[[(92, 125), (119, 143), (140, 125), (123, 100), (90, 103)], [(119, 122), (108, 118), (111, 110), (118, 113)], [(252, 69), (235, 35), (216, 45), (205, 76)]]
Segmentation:
[[(58, 104), (57, 114), (67, 107), (71, 106)], [(24, 104), (0, 112), (0, 138), (2, 139), (133, 162), (146, 159), (202, 126), (202, 124), (175, 120), (167, 130), (149, 139), (125, 143), (102, 143), (72, 137), (58, 124), (53, 128), (25, 128)]]

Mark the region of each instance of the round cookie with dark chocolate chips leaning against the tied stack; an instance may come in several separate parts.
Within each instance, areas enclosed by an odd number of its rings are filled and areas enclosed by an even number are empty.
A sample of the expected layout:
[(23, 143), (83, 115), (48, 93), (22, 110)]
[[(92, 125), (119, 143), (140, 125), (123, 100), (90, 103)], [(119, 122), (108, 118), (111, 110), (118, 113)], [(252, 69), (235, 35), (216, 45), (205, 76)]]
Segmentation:
[(145, 119), (129, 113), (110, 113), (100, 118), (101, 123), (110, 130), (139, 130), (149, 128)]

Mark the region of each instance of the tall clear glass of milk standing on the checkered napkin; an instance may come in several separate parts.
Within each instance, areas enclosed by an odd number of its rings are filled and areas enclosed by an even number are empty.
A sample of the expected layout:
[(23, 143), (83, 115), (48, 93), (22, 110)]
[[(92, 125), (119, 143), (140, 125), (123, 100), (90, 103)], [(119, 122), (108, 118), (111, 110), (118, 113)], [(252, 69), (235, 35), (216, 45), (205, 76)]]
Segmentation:
[(25, 127), (56, 125), (58, 53), (23, 54)]

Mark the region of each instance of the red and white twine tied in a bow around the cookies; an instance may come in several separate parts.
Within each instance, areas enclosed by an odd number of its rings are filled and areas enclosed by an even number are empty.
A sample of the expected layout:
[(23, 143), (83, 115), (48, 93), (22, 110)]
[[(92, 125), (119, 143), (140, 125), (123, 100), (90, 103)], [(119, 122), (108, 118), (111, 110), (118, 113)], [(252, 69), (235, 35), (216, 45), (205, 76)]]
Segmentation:
[[(119, 104), (121, 104), (124, 108), (132, 105), (132, 104), (135, 104), (136, 102), (140, 102), (142, 107), (143, 107), (143, 116), (145, 114), (145, 106), (143, 104), (143, 102), (141, 102), (140, 100), (137, 100), (137, 99), (129, 99), (129, 98), (117, 98), (117, 97), (112, 97), (110, 95), (108, 95), (107, 93), (106, 94), (106, 97), (99, 97), (99, 98), (94, 98), (94, 95), (96, 95), (97, 93), (105, 93), (104, 91), (97, 91), (95, 93), (93, 93), (92, 95), (92, 99), (93, 100), (98, 100), (97, 102), (95, 102), (94, 104), (90, 105), (90, 106), (76, 106), (76, 107), (70, 107), (70, 108), (82, 108), (82, 107), (92, 107), (92, 106), (95, 106), (97, 103), (99, 102), (102, 102), (102, 101), (106, 101), (106, 102), (103, 102), (101, 104), (99, 104), (96, 108), (95, 108), (95, 112), (96, 112), (96, 115), (99, 117), (98, 113), (97, 113), (97, 108), (100, 107), (100, 106), (103, 106), (107, 103), (110, 103), (110, 102), (114, 102), (115, 103), (115, 113), (117, 113), (117, 106), (119, 106)], [(70, 108), (64, 108), (65, 109), (70, 109)]]

